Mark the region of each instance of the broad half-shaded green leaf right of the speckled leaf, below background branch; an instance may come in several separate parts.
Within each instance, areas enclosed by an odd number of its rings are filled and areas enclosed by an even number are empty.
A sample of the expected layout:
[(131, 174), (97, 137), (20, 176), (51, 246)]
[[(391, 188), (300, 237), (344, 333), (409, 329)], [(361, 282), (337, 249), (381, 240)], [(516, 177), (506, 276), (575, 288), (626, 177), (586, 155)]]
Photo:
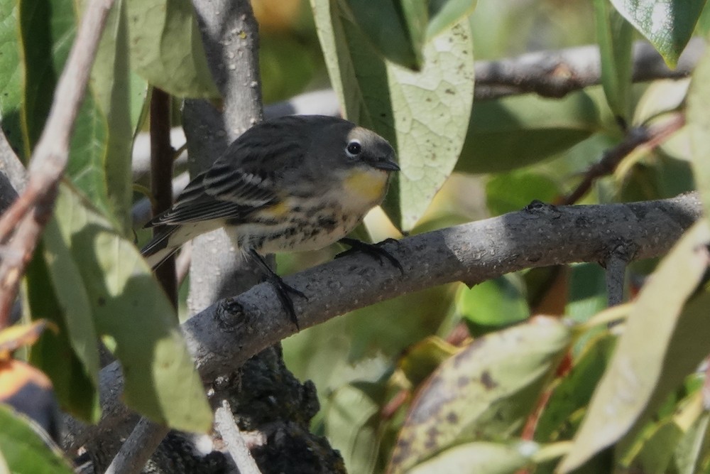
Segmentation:
[(603, 129), (600, 102), (601, 90), (594, 87), (562, 99), (521, 95), (476, 102), (456, 171), (510, 171), (567, 150)]

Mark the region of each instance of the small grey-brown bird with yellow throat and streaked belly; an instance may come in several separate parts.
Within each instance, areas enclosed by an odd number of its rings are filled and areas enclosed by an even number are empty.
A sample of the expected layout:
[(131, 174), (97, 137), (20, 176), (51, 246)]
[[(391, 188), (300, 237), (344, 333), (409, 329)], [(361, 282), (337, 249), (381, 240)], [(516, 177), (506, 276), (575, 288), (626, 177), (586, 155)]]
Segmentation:
[(164, 227), (141, 253), (155, 267), (193, 237), (227, 227), (242, 254), (264, 269), (297, 324), (288, 293), (305, 295), (285, 284), (263, 255), (344, 241), (401, 269), (383, 249), (345, 238), (382, 202), (399, 169), (388, 141), (347, 120), (292, 115), (261, 122), (146, 224)]

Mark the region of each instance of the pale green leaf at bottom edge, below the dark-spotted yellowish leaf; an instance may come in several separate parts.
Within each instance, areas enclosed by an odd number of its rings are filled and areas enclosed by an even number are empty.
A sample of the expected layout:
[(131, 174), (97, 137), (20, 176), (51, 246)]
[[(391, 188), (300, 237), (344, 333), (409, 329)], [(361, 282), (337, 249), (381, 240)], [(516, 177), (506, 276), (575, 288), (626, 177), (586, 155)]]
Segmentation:
[(528, 465), (535, 451), (535, 443), (464, 443), (432, 456), (407, 473), (514, 474)]

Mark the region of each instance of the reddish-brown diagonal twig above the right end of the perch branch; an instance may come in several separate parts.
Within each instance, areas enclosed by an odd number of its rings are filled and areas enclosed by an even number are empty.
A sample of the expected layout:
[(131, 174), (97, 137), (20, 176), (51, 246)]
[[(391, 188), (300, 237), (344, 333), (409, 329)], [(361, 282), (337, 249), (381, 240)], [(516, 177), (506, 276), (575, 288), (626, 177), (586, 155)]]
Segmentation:
[(670, 135), (674, 134), (685, 124), (685, 116), (681, 112), (677, 112), (671, 119), (665, 120), (661, 124), (653, 126), (639, 126), (628, 131), (626, 139), (613, 149), (606, 151), (599, 163), (594, 164), (589, 168), (589, 171), (584, 173), (584, 178), (577, 185), (572, 193), (564, 196), (559, 203), (569, 205), (577, 203), (589, 190), (594, 182), (602, 176), (607, 176), (616, 170), (616, 167), (623, 158), (630, 155), (635, 149), (640, 146), (645, 146), (648, 149), (653, 149)]

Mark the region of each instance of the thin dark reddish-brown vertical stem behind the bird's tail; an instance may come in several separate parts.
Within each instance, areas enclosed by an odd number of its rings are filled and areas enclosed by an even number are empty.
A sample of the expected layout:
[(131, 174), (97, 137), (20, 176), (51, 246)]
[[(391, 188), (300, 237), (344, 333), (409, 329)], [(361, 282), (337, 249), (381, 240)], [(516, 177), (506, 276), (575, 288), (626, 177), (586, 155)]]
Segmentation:
[[(175, 149), (170, 144), (170, 95), (153, 88), (151, 94), (151, 192), (153, 194), (153, 215), (167, 210), (173, 205), (173, 158)], [(163, 232), (161, 227), (153, 228), (153, 235)], [(178, 306), (178, 281), (175, 278), (175, 257), (168, 257), (155, 269), (155, 277), (160, 281), (165, 293)]]

